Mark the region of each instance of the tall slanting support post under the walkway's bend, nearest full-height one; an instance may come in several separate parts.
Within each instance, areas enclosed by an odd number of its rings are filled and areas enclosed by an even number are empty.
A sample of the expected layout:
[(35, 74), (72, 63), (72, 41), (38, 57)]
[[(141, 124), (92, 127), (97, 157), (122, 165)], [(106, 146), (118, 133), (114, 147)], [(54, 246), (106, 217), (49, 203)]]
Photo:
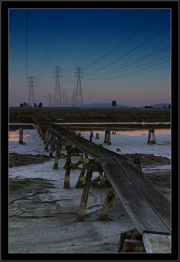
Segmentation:
[[(94, 159), (89, 159), (89, 164), (93, 164), (95, 162)], [(81, 197), (80, 207), (78, 209), (77, 220), (83, 221), (85, 219), (86, 214), (86, 206), (87, 206), (87, 199), (89, 195), (90, 185), (91, 185), (91, 178), (93, 172), (86, 172), (86, 179), (83, 187), (83, 194)]]

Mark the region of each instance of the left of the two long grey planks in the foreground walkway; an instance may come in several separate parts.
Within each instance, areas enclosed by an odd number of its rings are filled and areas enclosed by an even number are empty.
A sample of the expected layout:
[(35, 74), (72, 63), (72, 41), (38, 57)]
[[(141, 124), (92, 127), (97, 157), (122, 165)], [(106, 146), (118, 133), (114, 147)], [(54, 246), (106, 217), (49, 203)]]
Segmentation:
[(143, 235), (144, 231), (149, 231), (170, 234), (169, 229), (132, 185), (116, 161), (100, 160), (100, 164), (139, 233)]

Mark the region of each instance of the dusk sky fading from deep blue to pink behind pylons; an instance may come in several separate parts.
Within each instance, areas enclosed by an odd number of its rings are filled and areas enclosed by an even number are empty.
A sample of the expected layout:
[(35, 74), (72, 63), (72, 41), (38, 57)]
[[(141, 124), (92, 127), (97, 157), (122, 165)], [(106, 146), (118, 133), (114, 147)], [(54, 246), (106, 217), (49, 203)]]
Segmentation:
[(77, 88), (83, 104), (171, 103), (171, 30), (167, 8), (9, 8), (9, 106), (29, 103), (30, 76), (44, 107), (58, 84), (62, 106)]

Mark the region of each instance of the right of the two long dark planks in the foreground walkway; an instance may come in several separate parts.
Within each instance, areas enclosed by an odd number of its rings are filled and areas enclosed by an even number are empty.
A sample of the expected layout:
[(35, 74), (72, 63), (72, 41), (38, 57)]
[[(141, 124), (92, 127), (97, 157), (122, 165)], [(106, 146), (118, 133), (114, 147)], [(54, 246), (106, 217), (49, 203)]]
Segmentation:
[(136, 165), (124, 160), (116, 160), (116, 162), (132, 185), (171, 231), (171, 204), (168, 199)]

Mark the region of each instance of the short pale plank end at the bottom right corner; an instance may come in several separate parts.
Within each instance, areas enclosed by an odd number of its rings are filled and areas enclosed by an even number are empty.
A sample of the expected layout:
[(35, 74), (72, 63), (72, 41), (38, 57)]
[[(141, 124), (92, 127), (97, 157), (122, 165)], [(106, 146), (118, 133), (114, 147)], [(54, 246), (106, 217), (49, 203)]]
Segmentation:
[(171, 236), (143, 233), (146, 253), (171, 253)]

